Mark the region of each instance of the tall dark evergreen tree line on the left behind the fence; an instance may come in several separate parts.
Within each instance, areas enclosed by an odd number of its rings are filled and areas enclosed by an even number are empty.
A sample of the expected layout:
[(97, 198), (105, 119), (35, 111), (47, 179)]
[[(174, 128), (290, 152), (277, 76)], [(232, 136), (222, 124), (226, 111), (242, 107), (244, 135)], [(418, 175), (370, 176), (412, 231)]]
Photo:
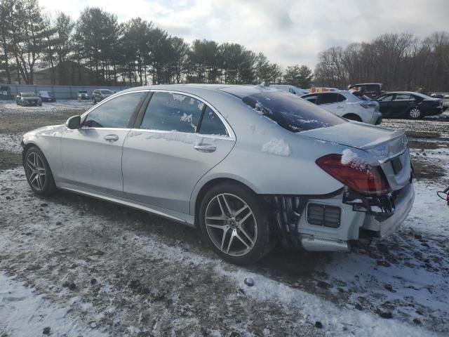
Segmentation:
[(73, 64), (88, 68), (95, 85), (265, 81), (308, 88), (313, 77), (307, 66), (283, 71), (240, 44), (199, 39), (189, 44), (153, 22), (118, 22), (115, 14), (97, 7), (84, 8), (75, 21), (65, 13), (51, 18), (37, 0), (1, 0), (0, 39), (0, 78), (8, 83), (34, 84), (37, 65), (45, 65), (52, 84), (72, 84)]

